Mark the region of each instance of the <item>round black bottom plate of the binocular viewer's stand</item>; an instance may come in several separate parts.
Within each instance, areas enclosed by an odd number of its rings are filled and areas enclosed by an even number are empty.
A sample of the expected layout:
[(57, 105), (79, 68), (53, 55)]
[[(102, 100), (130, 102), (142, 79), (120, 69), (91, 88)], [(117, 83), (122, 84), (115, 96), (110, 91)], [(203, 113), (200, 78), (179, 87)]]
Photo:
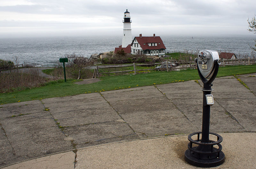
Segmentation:
[(185, 160), (191, 164), (198, 167), (215, 167), (221, 165), (225, 161), (225, 155), (222, 151), (220, 151), (219, 158), (212, 158), (212, 159), (198, 159), (194, 157), (189, 149), (185, 151)]

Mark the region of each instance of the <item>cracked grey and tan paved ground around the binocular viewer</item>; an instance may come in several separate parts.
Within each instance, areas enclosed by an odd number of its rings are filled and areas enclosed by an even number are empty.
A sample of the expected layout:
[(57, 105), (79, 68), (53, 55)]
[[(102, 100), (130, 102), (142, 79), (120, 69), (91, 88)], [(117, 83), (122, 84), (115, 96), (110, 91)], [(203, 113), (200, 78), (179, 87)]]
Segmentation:
[[(210, 131), (223, 137), (224, 168), (256, 168), (250, 75), (239, 77), (250, 90), (233, 77), (213, 82)], [(201, 131), (201, 86), (188, 81), (1, 105), (0, 167), (196, 168), (184, 152), (187, 135)]]

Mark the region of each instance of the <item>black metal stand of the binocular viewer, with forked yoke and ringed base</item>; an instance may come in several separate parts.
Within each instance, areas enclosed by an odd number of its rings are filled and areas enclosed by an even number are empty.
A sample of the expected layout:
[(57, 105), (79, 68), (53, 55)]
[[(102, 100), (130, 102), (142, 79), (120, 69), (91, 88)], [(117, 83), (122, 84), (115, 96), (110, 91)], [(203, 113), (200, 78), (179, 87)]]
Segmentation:
[[(202, 132), (195, 132), (188, 135), (188, 150), (185, 151), (185, 160), (195, 166), (199, 167), (213, 167), (221, 165), (225, 160), (225, 155), (221, 151), (222, 146), (220, 143), (222, 142), (222, 137), (216, 133), (209, 132), (210, 129), (210, 112), (211, 107), (207, 104), (206, 95), (210, 95), (212, 92), (212, 81), (215, 79), (219, 65), (217, 64), (217, 60), (214, 61), (214, 70), (212, 77), (207, 80), (200, 73), (197, 65), (198, 74), (204, 83), (203, 91), (203, 118), (202, 118)], [(200, 139), (200, 133), (202, 137)], [(197, 140), (193, 140), (192, 136), (197, 134)], [(217, 136), (217, 141), (212, 141), (209, 139), (209, 135)], [(194, 146), (193, 144), (197, 144), (198, 146)], [(213, 147), (214, 145), (219, 146), (219, 148)]]

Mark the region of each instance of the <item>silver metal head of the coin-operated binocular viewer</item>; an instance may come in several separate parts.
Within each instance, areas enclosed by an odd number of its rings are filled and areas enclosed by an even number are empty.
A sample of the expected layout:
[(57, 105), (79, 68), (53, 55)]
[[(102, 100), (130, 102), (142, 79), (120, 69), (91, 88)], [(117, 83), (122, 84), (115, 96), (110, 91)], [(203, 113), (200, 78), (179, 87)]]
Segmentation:
[(219, 54), (215, 50), (201, 50), (195, 59), (198, 70), (204, 78), (211, 78), (214, 72), (214, 65), (221, 64)]

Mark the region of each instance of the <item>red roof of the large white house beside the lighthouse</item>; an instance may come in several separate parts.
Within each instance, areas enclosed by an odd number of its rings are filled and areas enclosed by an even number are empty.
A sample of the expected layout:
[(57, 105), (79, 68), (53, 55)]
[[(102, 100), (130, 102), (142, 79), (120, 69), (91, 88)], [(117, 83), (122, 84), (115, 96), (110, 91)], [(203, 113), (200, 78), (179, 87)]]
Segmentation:
[[(140, 44), (142, 50), (166, 49), (164, 46), (163, 40), (160, 38), (160, 36), (141, 36), (140, 35), (138, 37), (134, 37), (134, 39), (132, 40), (132, 44), (135, 38)], [(157, 46), (148, 46), (148, 43), (157, 43)]]

